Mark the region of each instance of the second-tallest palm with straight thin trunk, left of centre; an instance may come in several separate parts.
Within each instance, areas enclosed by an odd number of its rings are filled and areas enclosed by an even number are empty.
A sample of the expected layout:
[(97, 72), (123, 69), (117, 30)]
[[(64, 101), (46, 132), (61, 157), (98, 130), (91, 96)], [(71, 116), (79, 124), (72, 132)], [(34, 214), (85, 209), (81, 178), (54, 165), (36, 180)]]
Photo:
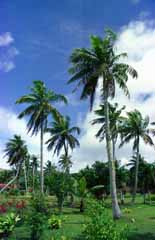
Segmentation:
[(47, 127), (48, 116), (56, 111), (53, 103), (67, 103), (63, 95), (56, 94), (46, 88), (42, 81), (34, 81), (31, 92), (19, 98), (17, 104), (28, 104), (28, 107), (19, 114), (19, 118), (29, 116), (27, 123), (28, 132), (37, 135), (40, 131), (40, 168), (41, 168), (41, 192), (44, 192), (44, 171), (43, 171), (43, 135)]

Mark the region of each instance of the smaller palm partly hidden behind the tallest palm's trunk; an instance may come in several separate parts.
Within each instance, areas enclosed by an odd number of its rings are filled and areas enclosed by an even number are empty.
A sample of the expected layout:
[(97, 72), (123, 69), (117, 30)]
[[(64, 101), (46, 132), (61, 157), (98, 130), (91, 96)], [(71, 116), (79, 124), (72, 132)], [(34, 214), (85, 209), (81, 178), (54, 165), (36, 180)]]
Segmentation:
[[(110, 132), (111, 132), (111, 139), (112, 139), (112, 149), (113, 149), (113, 160), (116, 160), (116, 154), (115, 154), (115, 146), (119, 134), (119, 125), (122, 122), (121, 113), (125, 109), (125, 106), (118, 109), (118, 104), (115, 103), (114, 105), (109, 103), (109, 122), (110, 122)], [(98, 116), (98, 118), (94, 119), (92, 121), (92, 124), (102, 124), (100, 129), (98, 130), (96, 137), (100, 139), (100, 141), (103, 141), (105, 139), (105, 109), (104, 105), (100, 106), (100, 109), (95, 111), (95, 114)]]

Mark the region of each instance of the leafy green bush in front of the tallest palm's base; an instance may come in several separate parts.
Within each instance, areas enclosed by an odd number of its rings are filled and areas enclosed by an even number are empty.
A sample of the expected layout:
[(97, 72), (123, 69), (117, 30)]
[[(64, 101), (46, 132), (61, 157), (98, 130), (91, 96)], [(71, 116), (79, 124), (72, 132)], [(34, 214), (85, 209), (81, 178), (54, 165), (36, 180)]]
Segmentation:
[(86, 240), (127, 240), (128, 227), (118, 229), (109, 217), (102, 202), (89, 202), (90, 221), (85, 224), (83, 235)]

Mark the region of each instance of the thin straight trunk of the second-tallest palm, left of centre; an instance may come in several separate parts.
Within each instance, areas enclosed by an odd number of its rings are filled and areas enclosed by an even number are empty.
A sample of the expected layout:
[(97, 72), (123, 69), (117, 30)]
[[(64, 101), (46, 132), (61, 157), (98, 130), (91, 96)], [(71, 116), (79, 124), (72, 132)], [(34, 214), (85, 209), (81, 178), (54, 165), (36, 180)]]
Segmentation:
[(43, 123), (40, 129), (40, 182), (41, 182), (41, 193), (44, 193), (44, 170), (43, 170)]

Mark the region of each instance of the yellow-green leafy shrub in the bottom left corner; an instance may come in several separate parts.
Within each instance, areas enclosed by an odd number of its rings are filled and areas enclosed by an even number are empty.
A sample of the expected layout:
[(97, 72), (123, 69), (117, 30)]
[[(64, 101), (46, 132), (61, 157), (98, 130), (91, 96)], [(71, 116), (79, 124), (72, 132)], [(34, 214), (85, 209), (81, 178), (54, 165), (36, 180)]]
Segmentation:
[(20, 218), (14, 213), (0, 217), (0, 238), (8, 237), (19, 220)]

